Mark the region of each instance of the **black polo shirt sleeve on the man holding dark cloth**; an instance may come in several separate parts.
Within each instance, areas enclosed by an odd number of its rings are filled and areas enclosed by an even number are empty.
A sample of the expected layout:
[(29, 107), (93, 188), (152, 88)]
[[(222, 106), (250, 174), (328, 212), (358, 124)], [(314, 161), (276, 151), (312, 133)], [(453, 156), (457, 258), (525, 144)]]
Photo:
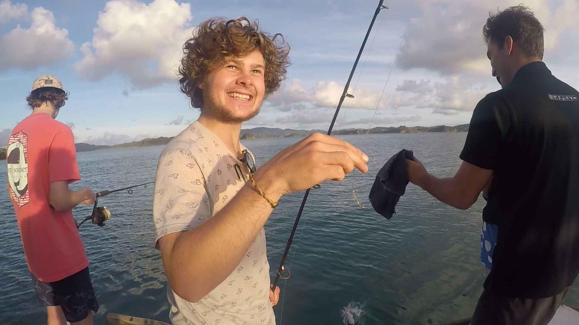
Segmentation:
[(501, 157), (504, 135), (509, 127), (509, 113), (502, 99), (494, 96), (481, 99), (472, 113), (460, 159), (494, 170)]

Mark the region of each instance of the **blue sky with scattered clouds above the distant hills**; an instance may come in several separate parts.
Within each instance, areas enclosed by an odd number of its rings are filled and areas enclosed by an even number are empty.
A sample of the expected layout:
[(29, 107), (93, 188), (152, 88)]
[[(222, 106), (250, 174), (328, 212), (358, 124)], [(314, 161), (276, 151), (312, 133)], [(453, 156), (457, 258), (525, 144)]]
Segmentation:
[[(390, 9), (376, 19), (351, 83), (356, 98), (345, 101), (335, 128), (369, 127), (377, 106), (372, 126), (468, 123), (479, 99), (499, 88), (490, 76), (482, 25), (489, 11), (518, 3), (384, 1)], [(288, 79), (244, 127), (327, 129), (377, 4), (0, 0), (0, 141), (30, 113), (25, 97), (44, 73), (58, 76), (71, 93), (58, 120), (71, 125), (77, 142), (110, 145), (177, 134), (199, 116), (178, 90), (181, 47), (193, 27), (215, 16), (257, 19), (291, 46)], [(579, 87), (577, 1), (525, 4), (545, 26), (544, 61)]]

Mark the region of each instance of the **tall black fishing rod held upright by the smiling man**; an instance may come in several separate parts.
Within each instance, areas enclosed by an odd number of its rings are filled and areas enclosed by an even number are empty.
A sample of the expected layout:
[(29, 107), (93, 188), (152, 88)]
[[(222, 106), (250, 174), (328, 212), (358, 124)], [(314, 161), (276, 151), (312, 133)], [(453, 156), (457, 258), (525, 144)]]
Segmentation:
[[(372, 26), (374, 25), (374, 21), (376, 20), (376, 17), (380, 13), (380, 10), (388, 9), (387, 6), (384, 6), (382, 4), (383, 2), (384, 2), (384, 0), (380, 0), (378, 2), (378, 7), (376, 8), (376, 12), (374, 13), (374, 16), (372, 17), (372, 21), (370, 23), (370, 26), (368, 27), (368, 31), (366, 32), (366, 36), (364, 38), (364, 41), (362, 42), (362, 46), (360, 47), (360, 51), (358, 51), (358, 56), (356, 57), (356, 61), (354, 61), (354, 67), (352, 67), (352, 70), (350, 72), (350, 76), (348, 77), (348, 81), (346, 82), (346, 86), (344, 87), (342, 97), (340, 97), (340, 101), (338, 102), (338, 106), (336, 107), (336, 112), (334, 113), (334, 118), (332, 119), (332, 123), (329, 125), (328, 133), (327, 133), (328, 135), (332, 134), (332, 128), (334, 128), (334, 123), (336, 122), (336, 117), (338, 117), (338, 113), (340, 112), (340, 107), (342, 106), (342, 102), (344, 101), (344, 99), (346, 97), (354, 98), (354, 95), (348, 94), (348, 88), (350, 87), (350, 82), (352, 80), (352, 77), (354, 76), (354, 71), (356, 70), (356, 66), (358, 65), (358, 61), (360, 60), (360, 56), (362, 55), (362, 51), (364, 50), (364, 46), (366, 45), (366, 41), (368, 40), (368, 36), (370, 35), (370, 31), (372, 30)], [(306, 205), (307, 196), (309, 194), (310, 194), (310, 189), (307, 189), (306, 194), (303, 195), (302, 205), (299, 207), (298, 216), (296, 217), (295, 222), (294, 222), (294, 228), (292, 228), (290, 238), (288, 239), (288, 243), (285, 246), (284, 255), (283, 255), (283, 257), (281, 257), (280, 267), (278, 267), (278, 269), (277, 269), (276, 279), (273, 281), (272, 291), (274, 291), (274, 292), (276, 290), (277, 281), (280, 279), (280, 277), (284, 280), (290, 278), (290, 275), (291, 275), (290, 270), (284, 269), (284, 263), (285, 263), (285, 259), (288, 256), (288, 252), (290, 252), (290, 246), (291, 246), (292, 242), (294, 241), (295, 231), (298, 228), (299, 219), (302, 217), (303, 208)]]

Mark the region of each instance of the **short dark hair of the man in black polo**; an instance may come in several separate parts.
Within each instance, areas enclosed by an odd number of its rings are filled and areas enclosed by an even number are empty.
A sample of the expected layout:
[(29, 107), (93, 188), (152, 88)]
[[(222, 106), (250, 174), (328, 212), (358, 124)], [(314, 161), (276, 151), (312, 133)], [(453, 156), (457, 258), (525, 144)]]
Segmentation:
[(513, 42), (521, 41), (526, 56), (537, 56), (543, 60), (545, 50), (543, 32), (545, 29), (533, 12), (526, 6), (512, 6), (497, 14), (489, 14), (482, 35), (485, 43), (493, 40), (503, 49), (505, 37), (511, 36)]

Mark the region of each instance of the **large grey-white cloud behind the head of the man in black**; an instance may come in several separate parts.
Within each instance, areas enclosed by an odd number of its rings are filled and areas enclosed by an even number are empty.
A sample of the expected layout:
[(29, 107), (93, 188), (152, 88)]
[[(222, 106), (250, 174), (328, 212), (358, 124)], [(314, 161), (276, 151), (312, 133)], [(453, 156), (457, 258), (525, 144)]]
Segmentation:
[[(464, 71), (490, 73), (482, 28), (490, 13), (519, 5), (515, 0), (420, 1), (422, 14), (409, 21), (397, 65), (426, 68), (442, 75)], [(524, 3), (545, 27), (545, 53), (556, 51), (559, 35), (579, 28), (577, 0), (529, 0)]]

